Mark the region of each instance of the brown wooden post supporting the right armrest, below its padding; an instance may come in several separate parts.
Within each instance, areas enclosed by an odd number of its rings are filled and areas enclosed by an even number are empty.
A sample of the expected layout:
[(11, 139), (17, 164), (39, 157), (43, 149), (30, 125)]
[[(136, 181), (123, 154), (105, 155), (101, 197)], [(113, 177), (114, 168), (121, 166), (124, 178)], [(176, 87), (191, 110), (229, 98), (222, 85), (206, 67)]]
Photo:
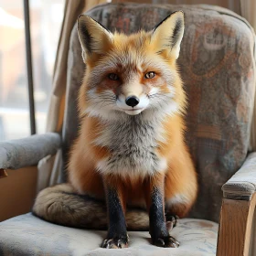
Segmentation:
[(248, 256), (256, 194), (251, 201), (223, 198), (217, 256)]

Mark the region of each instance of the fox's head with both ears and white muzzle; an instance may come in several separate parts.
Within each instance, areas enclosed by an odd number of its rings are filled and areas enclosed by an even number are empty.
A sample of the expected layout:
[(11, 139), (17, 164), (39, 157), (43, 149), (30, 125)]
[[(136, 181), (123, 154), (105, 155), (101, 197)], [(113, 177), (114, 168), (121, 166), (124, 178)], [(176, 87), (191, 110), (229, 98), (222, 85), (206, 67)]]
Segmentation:
[(80, 88), (80, 113), (116, 119), (127, 115), (154, 118), (185, 108), (176, 70), (184, 33), (184, 14), (167, 16), (152, 31), (126, 36), (102, 27), (90, 16), (78, 19), (86, 72)]

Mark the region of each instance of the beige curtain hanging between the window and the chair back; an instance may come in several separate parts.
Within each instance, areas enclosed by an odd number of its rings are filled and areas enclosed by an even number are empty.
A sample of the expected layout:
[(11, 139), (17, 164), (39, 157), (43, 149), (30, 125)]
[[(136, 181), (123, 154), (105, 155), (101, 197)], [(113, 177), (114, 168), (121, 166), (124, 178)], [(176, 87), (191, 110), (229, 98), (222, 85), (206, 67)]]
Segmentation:
[[(52, 95), (48, 108), (47, 132), (61, 133), (67, 82), (67, 65), (69, 53), (69, 38), (77, 17), (94, 5), (106, 3), (103, 0), (66, 0), (64, 17), (59, 36), (57, 57), (55, 60), (54, 75), (52, 81)], [(37, 191), (58, 183), (61, 169), (61, 151), (54, 156), (42, 159), (38, 166)]]

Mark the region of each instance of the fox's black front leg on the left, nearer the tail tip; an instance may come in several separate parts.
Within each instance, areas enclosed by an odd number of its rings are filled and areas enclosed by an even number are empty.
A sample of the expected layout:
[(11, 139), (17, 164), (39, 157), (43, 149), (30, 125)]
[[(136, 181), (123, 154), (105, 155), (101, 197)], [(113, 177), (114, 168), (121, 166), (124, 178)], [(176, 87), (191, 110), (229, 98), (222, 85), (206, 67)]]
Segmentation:
[(108, 207), (109, 229), (102, 247), (109, 249), (126, 248), (128, 247), (128, 235), (124, 217), (124, 190), (111, 177), (104, 177), (103, 179)]

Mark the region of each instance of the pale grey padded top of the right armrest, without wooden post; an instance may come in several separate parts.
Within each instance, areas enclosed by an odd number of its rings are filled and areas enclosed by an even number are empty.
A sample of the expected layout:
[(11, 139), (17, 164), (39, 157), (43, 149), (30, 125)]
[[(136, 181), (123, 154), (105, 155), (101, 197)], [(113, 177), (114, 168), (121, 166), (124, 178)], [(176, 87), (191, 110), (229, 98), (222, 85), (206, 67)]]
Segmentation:
[(223, 197), (233, 200), (251, 200), (256, 191), (256, 152), (248, 155), (234, 176), (222, 186)]

